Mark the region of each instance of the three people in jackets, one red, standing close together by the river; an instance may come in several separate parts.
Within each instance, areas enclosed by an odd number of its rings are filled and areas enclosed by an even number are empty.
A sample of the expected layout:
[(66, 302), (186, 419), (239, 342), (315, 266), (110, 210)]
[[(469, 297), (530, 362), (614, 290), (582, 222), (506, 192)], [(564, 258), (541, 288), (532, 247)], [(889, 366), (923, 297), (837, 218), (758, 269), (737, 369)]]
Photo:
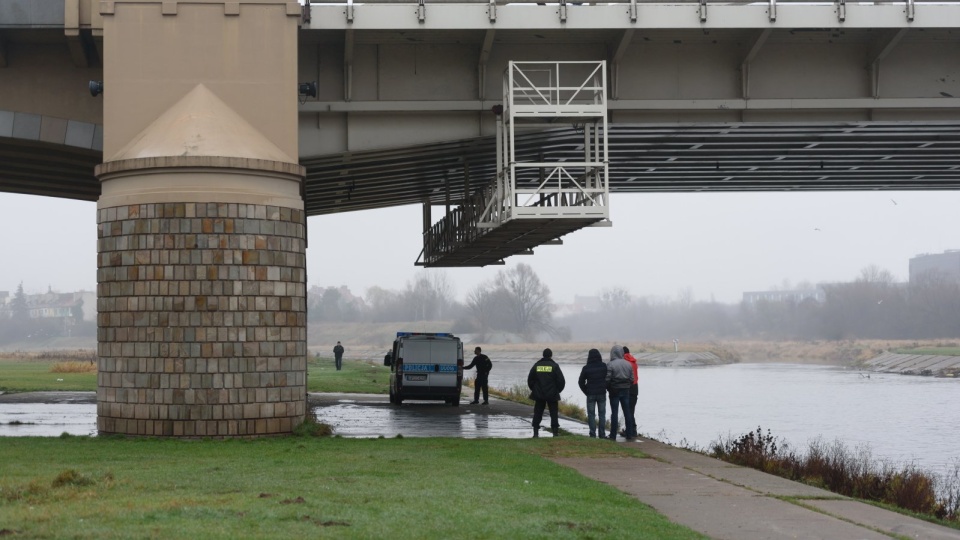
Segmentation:
[[(610, 363), (604, 364), (600, 351), (590, 349), (587, 363), (580, 371), (580, 390), (587, 396), (587, 427), (591, 437), (616, 440), (620, 427), (619, 412), (623, 410), (621, 434), (632, 441), (637, 437), (637, 397), (639, 396), (637, 359), (630, 349), (614, 345), (610, 349)], [(607, 399), (610, 400), (610, 433), (607, 435)], [(599, 422), (598, 417), (599, 416)]]

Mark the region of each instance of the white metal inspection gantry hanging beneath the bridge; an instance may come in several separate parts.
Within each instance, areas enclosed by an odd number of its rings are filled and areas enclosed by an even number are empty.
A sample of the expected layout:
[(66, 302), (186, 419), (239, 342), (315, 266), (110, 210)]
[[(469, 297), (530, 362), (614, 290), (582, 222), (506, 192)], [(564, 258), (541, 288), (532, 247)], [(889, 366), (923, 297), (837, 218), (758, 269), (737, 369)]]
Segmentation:
[[(610, 225), (605, 62), (510, 62), (497, 116), (496, 177), (430, 225), (424, 203), (418, 266), (503, 264), (510, 255), (561, 243), (583, 227)], [(502, 110), (500, 110), (502, 107)], [(582, 132), (581, 159), (569, 144), (518, 149), (518, 132), (572, 124)], [(553, 152), (552, 152), (553, 151)], [(556, 155), (554, 155), (556, 154)], [(449, 200), (449, 193), (448, 193)]]

